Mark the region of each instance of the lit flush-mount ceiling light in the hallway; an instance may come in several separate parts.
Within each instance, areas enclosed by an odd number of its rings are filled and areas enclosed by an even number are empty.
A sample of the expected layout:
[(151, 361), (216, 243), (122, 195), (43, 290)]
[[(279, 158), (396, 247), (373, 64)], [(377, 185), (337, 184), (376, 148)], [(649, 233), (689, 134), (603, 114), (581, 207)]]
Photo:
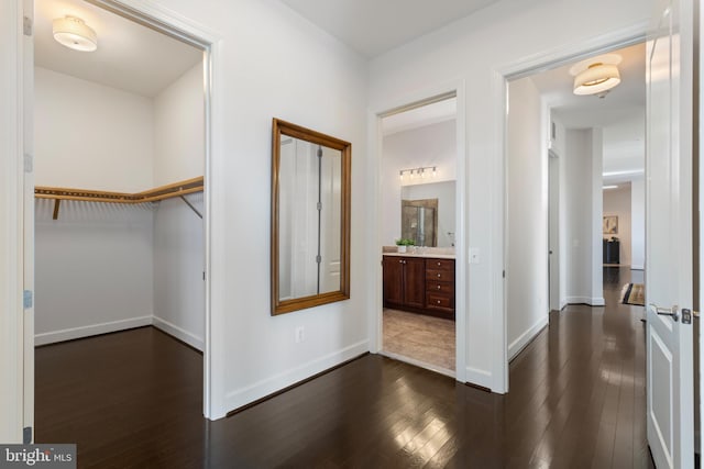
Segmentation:
[(570, 68), (574, 77), (574, 94), (597, 94), (604, 98), (606, 93), (620, 83), (618, 64), (620, 55), (605, 54), (587, 58)]

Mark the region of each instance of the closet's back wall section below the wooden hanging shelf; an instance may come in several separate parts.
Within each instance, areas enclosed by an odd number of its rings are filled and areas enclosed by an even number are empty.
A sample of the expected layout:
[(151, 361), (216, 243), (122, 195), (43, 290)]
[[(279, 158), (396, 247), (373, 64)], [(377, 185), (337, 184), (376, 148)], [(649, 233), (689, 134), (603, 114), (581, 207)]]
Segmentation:
[(152, 209), (37, 199), (35, 344), (151, 324)]

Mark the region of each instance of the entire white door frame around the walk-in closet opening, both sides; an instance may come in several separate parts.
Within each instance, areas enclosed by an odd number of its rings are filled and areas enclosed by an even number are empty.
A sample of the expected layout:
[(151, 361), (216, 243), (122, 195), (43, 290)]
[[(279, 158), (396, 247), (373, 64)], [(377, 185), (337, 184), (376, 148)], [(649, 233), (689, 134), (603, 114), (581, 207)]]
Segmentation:
[[(3, 418), (0, 422), (0, 440), (21, 442), (22, 433), (22, 401), (23, 393), (19, 389), (19, 383), (22, 382), (22, 362), (23, 354), (20, 338), (22, 337), (22, 323), (19, 321), (20, 315), (18, 311), (22, 311), (22, 284), (21, 279), (24, 276), (22, 266), (22, 252), (23, 252), (23, 199), (21, 197), (22, 191), (22, 178), (23, 178), (23, 164), (22, 156), (22, 132), (23, 125), (22, 115), (23, 109), (20, 102), (13, 102), (8, 99), (8, 104), (4, 105), (6, 97), (23, 96), (23, 76), (21, 70), (21, 64), (23, 59), (23, 53), (21, 48), (22, 37), (22, 12), (23, 0), (3, 1), (0, 7), (0, 25), (2, 25), (2, 34), (0, 42), (0, 64), (3, 65), (4, 70), (10, 72), (3, 72), (0, 78), (0, 97), (2, 97), (3, 105), (0, 107), (0, 132), (3, 132), (2, 139), (0, 142), (8, 142), (2, 147), (2, 157), (0, 158), (0, 167), (2, 171), (0, 175), (4, 177), (2, 185), (2, 201), (0, 202), (0, 220), (2, 220), (3, 226), (15, 226), (16, 228), (8, 230), (8, 233), (0, 235), (0, 249), (4, 249), (6, 246), (9, 250), (6, 256), (3, 250), (0, 250), (0, 256), (3, 259), (9, 259), (7, 264), (3, 264), (2, 270), (0, 270), (0, 331), (7, 334), (0, 340), (0, 371), (4, 376), (16, 376), (16, 380), (8, 379), (0, 380), (6, 386), (7, 383), (14, 383), (16, 386), (10, 386), (6, 389), (0, 386), (0, 406), (3, 410)], [(130, 19), (139, 19), (143, 24), (154, 27), (157, 31), (164, 32), (170, 36), (178, 37), (182, 41), (196, 45), (204, 49), (204, 91), (206, 98), (205, 105), (205, 121), (206, 121), (206, 167), (205, 167), (205, 236), (206, 236), (206, 305), (205, 305), (205, 320), (206, 320), (206, 337), (204, 349), (204, 415), (207, 418), (219, 418), (224, 415), (223, 395), (222, 392), (218, 392), (220, 386), (213, 386), (213, 382), (219, 383), (222, 376), (221, 360), (213, 359), (213, 349), (218, 349), (218, 344), (213, 344), (213, 338), (219, 339), (219, 336), (215, 334), (215, 331), (219, 330), (219, 325), (224, 321), (223, 313), (213, 312), (211, 309), (211, 248), (213, 239), (213, 220), (210, 216), (212, 213), (212, 200), (216, 194), (217, 188), (212, 178), (212, 161), (220, 155), (223, 155), (222, 137), (224, 135), (224, 122), (222, 118), (222, 110), (220, 99), (223, 96), (223, 69), (221, 67), (220, 57), (222, 56), (222, 41), (221, 35), (206, 29), (205, 26), (190, 21), (187, 18), (180, 16), (172, 10), (165, 9), (147, 0), (120, 0), (120, 2), (113, 0), (91, 0), (107, 10), (113, 11), (118, 14), (122, 14)], [(7, 176), (6, 176), (7, 175)], [(7, 205), (7, 206), (6, 206)], [(12, 205), (12, 206), (10, 206)], [(8, 236), (6, 242), (4, 237)], [(14, 255), (9, 255), (14, 253)], [(7, 279), (4, 278), (7, 277)], [(6, 281), (7, 280), (7, 281)], [(7, 327), (4, 327), (7, 324)], [(8, 405), (12, 412), (4, 412), (4, 406)], [(15, 415), (16, 414), (16, 415)], [(4, 418), (4, 415), (9, 415), (9, 418)], [(7, 435), (7, 437), (6, 437)]]

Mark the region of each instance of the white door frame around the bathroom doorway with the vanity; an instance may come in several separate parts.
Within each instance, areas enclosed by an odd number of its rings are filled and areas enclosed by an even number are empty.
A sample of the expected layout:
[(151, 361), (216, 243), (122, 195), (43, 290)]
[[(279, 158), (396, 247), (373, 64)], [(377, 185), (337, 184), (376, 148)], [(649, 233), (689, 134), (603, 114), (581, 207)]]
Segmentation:
[(373, 185), (373, 199), (371, 206), (376, 211), (374, 216), (374, 226), (376, 230), (372, 230), (374, 236), (371, 246), (371, 253), (369, 253), (367, 265), (374, 266), (372, 270), (374, 273), (370, 276), (370, 283), (367, 283), (369, 291), (375, 292), (370, 295), (374, 303), (370, 306), (369, 311), (372, 313), (370, 317), (370, 349), (372, 353), (380, 353), (383, 348), (383, 291), (382, 291), (382, 269), (380, 265), (380, 257), (382, 254), (382, 213), (380, 210), (382, 201), (382, 181), (380, 175), (382, 174), (382, 144), (384, 135), (382, 132), (382, 119), (386, 115), (391, 115), (396, 112), (400, 112), (404, 109), (409, 109), (422, 105), (424, 102), (429, 102), (433, 97), (447, 96), (454, 93), (457, 97), (457, 182), (455, 182), (455, 372), (454, 378), (460, 382), (466, 382), (466, 322), (468, 322), (468, 269), (466, 263), (466, 152), (465, 152), (465, 132), (466, 132), (466, 118), (465, 118), (465, 91), (464, 81), (452, 81), (438, 87), (431, 87), (424, 89), (422, 91), (405, 96), (400, 99), (389, 101), (373, 110), (369, 116), (369, 135), (370, 135), (370, 158), (369, 158), (369, 172), (367, 180)]

